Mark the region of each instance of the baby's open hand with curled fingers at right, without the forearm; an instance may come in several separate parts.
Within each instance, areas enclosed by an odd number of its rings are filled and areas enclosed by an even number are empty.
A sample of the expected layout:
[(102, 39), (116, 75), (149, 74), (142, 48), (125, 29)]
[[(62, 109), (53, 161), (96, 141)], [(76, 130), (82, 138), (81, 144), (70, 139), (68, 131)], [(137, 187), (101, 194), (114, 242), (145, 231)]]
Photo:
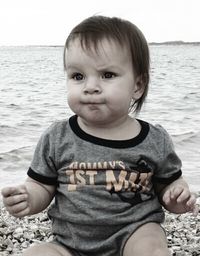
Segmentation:
[(162, 201), (166, 209), (173, 213), (193, 212), (194, 216), (197, 216), (199, 212), (195, 194), (191, 193), (188, 187), (181, 184), (169, 185), (163, 194)]

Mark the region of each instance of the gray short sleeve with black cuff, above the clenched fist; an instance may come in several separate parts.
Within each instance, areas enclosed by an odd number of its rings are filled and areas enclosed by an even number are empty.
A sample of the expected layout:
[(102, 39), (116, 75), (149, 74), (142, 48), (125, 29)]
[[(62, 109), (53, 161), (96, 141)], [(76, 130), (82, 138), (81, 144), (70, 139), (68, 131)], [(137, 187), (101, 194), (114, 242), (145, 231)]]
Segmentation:
[(32, 179), (47, 185), (56, 185), (57, 183), (54, 134), (54, 125), (42, 134), (27, 173)]

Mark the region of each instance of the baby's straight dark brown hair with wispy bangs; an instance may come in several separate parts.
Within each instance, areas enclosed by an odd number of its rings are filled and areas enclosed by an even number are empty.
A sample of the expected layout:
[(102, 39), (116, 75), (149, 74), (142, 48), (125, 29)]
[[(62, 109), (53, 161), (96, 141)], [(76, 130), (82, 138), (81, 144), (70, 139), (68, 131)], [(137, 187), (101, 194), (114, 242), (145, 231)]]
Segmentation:
[(92, 16), (74, 27), (64, 46), (64, 68), (66, 70), (65, 52), (74, 39), (79, 39), (84, 50), (98, 50), (102, 39), (114, 40), (130, 50), (134, 75), (141, 78), (144, 93), (133, 102), (131, 110), (139, 112), (147, 96), (149, 85), (149, 47), (143, 33), (131, 22), (117, 17)]

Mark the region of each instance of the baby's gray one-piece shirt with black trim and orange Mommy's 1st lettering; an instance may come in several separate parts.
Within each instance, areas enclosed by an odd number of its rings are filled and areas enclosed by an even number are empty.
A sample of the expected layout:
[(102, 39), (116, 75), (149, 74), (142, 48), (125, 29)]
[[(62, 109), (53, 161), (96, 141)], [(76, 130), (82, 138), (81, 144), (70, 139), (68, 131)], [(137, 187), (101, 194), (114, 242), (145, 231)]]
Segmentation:
[(121, 255), (140, 225), (164, 220), (154, 184), (179, 178), (181, 161), (161, 126), (138, 121), (137, 137), (115, 141), (85, 133), (72, 116), (38, 142), (28, 175), (57, 187), (53, 232), (79, 255)]

